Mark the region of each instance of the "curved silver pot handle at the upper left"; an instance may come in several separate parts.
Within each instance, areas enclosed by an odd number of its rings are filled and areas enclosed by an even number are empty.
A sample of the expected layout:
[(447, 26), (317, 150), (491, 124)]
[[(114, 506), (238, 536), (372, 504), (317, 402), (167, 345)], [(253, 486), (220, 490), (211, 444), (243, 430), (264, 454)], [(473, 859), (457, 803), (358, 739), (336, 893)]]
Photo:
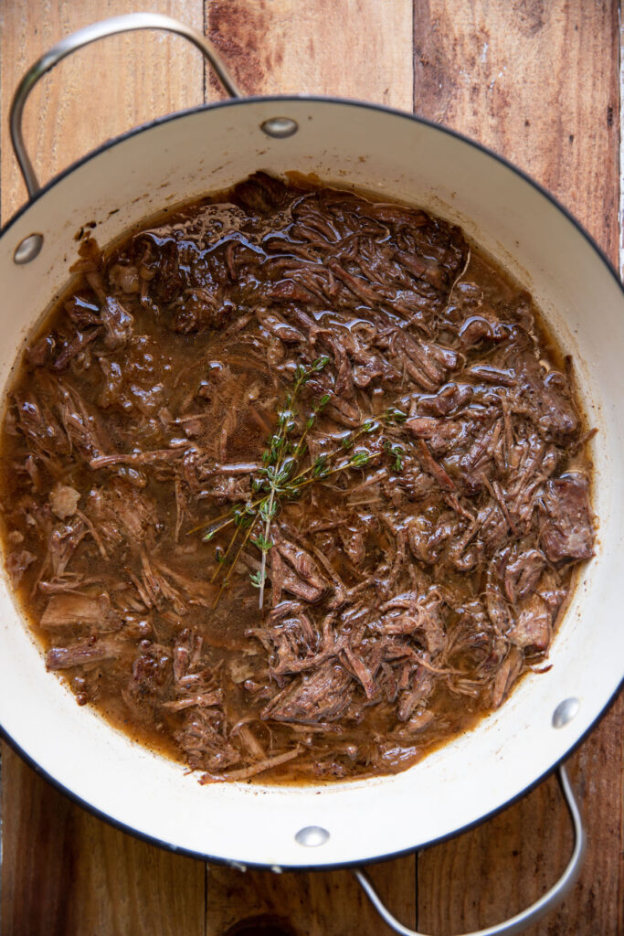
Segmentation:
[(34, 197), (38, 192), (40, 185), (36, 178), (35, 169), (26, 152), (22, 137), (22, 113), (24, 105), (36, 85), (36, 82), (50, 71), (57, 63), (71, 52), (81, 49), (95, 42), (96, 39), (103, 39), (107, 36), (114, 36), (116, 33), (134, 32), (137, 29), (164, 29), (168, 33), (177, 33), (192, 42), (196, 48), (202, 52), (208, 61), (217, 78), (223, 84), (225, 91), (231, 97), (241, 97), (236, 82), (232, 79), (225, 67), (221, 56), (214, 48), (210, 39), (207, 39), (202, 33), (197, 32), (191, 26), (186, 26), (183, 22), (172, 20), (168, 16), (162, 16), (160, 13), (128, 13), (125, 16), (113, 16), (109, 20), (94, 22), (91, 26), (85, 26), (78, 32), (72, 33), (52, 46), (51, 50), (44, 52), (35, 65), (31, 66), (23, 76), (17, 91), (11, 101), (9, 112), (9, 123), (11, 129), (11, 141), (17, 157), (17, 161), (22, 169), (22, 176), (28, 189), (29, 197)]

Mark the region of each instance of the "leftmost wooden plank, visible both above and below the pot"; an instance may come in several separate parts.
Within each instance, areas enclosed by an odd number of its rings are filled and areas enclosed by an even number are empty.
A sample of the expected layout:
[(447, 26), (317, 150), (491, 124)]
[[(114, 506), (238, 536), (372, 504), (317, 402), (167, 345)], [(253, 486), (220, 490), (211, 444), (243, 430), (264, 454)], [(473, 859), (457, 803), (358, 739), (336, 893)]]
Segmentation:
[[(202, 26), (202, 0), (151, 6)], [(12, 0), (0, 7), (3, 220), (25, 198), (6, 131), (10, 95), (23, 71), (67, 33), (134, 7), (129, 0), (54, 0), (45, 7)], [(112, 37), (80, 51), (41, 81), (26, 108), (24, 136), (39, 178), (46, 181), (136, 124), (200, 103), (203, 84), (199, 54), (179, 38)], [(3, 933), (203, 934), (203, 864), (115, 831), (4, 745), (2, 757)]]

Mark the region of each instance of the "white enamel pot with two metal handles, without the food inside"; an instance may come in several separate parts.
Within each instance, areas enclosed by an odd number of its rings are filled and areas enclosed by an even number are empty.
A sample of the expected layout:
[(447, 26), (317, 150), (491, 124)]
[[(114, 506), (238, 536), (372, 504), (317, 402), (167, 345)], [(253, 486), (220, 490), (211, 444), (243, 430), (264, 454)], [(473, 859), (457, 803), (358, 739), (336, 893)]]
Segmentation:
[[(20, 128), (28, 92), (69, 51), (144, 28), (193, 41), (233, 99), (134, 130), (38, 190)], [(316, 868), (396, 855), (471, 826), (520, 796), (586, 734), (624, 672), (624, 301), (596, 245), (526, 176), (443, 127), (331, 98), (239, 99), (204, 37), (155, 14), (98, 23), (65, 39), (22, 80), (11, 120), (31, 198), (0, 238), (3, 385), (26, 335), (68, 279), (74, 234), (85, 223), (96, 221), (97, 239), (106, 244), (166, 205), (225, 189), (257, 169), (313, 172), (326, 183), (412, 202), (461, 225), (530, 290), (573, 355), (589, 421), (599, 429), (593, 458), (600, 530), (596, 557), (555, 639), (552, 668), (530, 674), (502, 709), (398, 776), (318, 787), (200, 786), (181, 765), (80, 709), (46, 674), (2, 577), (0, 724), (7, 739), (116, 825), (245, 866)], [(572, 883), (583, 836), (564, 776), (562, 783), (577, 833), (564, 879), (529, 912), (486, 932), (517, 931)], [(383, 912), (395, 929), (409, 932)]]

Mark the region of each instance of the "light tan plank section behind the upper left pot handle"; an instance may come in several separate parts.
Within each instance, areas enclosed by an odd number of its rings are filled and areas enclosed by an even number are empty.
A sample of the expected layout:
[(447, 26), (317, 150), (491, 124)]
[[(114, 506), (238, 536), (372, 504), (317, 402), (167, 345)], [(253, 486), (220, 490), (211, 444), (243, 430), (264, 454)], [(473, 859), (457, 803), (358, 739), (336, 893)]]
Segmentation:
[[(141, 6), (130, 0), (0, 4), (5, 220), (26, 197), (7, 134), (10, 99), (26, 68), (61, 37)], [(156, 0), (149, 7), (202, 29), (203, 0)], [(109, 37), (75, 52), (39, 81), (26, 105), (24, 139), (43, 183), (106, 139), (201, 104), (203, 97), (201, 55), (181, 37), (151, 30)]]

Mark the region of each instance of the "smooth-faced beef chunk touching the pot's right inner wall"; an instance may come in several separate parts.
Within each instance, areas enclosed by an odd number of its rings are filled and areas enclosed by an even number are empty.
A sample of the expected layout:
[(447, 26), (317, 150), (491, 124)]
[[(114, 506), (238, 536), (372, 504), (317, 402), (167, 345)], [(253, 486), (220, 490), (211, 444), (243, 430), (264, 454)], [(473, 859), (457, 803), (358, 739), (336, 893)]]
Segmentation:
[(547, 481), (542, 527), (544, 552), (551, 563), (578, 562), (594, 554), (589, 513), (588, 483), (582, 478), (559, 477)]

